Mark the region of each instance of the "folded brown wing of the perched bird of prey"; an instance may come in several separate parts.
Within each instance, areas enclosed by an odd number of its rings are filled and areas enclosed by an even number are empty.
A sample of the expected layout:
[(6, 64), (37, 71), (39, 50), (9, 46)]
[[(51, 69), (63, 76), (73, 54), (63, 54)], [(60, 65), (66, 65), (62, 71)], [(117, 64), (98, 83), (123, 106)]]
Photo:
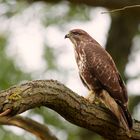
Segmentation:
[(128, 101), (126, 88), (111, 56), (98, 43), (89, 42), (84, 46), (91, 74), (100, 81), (115, 100)]

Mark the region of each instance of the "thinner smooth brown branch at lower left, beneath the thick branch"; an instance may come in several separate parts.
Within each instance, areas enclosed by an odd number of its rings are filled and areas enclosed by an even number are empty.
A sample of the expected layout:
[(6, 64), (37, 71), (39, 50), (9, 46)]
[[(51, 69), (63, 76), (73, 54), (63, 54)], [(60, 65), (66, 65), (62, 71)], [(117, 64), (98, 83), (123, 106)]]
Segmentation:
[(40, 140), (57, 140), (57, 138), (51, 134), (51, 132), (45, 125), (40, 124), (27, 117), (1, 117), (0, 124), (20, 127), (28, 132), (31, 132)]

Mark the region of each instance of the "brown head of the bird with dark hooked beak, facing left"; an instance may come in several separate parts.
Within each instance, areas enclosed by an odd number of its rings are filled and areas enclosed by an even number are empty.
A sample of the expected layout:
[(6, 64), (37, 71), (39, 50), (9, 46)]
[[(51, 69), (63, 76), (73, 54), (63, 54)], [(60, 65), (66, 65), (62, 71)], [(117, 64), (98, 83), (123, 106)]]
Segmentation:
[(65, 35), (65, 38), (69, 38), (71, 42), (76, 47), (80, 42), (86, 42), (91, 39), (91, 36), (81, 29), (70, 30), (68, 34)]

